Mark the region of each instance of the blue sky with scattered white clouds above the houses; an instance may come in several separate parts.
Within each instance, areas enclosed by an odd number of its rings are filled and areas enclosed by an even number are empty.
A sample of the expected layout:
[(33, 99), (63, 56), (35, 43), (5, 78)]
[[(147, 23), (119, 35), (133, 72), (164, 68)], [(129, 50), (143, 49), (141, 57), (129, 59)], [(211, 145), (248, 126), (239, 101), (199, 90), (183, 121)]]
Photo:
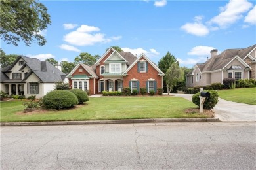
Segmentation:
[(45, 46), (13, 46), (6, 54), (74, 61), (81, 52), (102, 55), (119, 46), (158, 63), (169, 51), (192, 68), (217, 48), (256, 43), (255, 1), (41, 1), (52, 24), (41, 32)]

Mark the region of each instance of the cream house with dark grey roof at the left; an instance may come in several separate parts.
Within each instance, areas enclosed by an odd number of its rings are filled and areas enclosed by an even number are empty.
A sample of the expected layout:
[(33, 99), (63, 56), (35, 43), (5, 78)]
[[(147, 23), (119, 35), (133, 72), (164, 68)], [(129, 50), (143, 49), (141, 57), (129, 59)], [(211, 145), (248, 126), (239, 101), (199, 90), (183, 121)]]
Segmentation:
[(0, 73), (3, 92), (26, 97), (35, 95), (36, 98), (54, 90), (55, 82), (66, 78), (66, 74), (51, 63), (25, 56), (19, 56), (12, 65), (1, 68)]

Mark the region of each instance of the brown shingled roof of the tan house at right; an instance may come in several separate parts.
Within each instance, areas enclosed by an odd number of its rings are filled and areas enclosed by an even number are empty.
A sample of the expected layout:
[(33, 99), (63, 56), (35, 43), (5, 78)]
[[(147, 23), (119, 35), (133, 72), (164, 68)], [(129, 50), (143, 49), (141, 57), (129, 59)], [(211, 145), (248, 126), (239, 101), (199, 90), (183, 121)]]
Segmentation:
[(210, 59), (205, 61), (203, 64), (196, 64), (201, 72), (205, 71), (215, 71), (225, 68), (228, 63), (234, 59), (238, 59), (242, 65), (248, 67), (248, 65), (243, 61), (243, 59), (256, 48), (256, 44), (249, 46), (247, 48), (236, 48), (236, 49), (227, 49), (221, 52), (219, 55), (212, 56)]

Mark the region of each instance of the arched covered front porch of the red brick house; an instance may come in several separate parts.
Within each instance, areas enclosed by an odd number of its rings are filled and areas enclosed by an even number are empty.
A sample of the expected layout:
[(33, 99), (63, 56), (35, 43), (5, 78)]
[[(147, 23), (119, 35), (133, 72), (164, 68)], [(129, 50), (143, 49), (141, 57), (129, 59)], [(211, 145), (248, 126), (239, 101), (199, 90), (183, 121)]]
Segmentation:
[(98, 92), (102, 93), (103, 91), (119, 91), (123, 89), (123, 78), (102, 78), (98, 80)]

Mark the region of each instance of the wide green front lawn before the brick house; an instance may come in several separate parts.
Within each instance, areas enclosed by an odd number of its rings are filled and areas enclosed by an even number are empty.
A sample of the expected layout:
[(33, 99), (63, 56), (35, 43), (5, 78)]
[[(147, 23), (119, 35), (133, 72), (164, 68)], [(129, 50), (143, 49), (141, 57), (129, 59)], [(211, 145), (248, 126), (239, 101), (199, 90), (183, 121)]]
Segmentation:
[(76, 109), (16, 114), (24, 110), (22, 102), (1, 102), (1, 122), (206, 117), (185, 113), (196, 105), (181, 97), (95, 97)]

